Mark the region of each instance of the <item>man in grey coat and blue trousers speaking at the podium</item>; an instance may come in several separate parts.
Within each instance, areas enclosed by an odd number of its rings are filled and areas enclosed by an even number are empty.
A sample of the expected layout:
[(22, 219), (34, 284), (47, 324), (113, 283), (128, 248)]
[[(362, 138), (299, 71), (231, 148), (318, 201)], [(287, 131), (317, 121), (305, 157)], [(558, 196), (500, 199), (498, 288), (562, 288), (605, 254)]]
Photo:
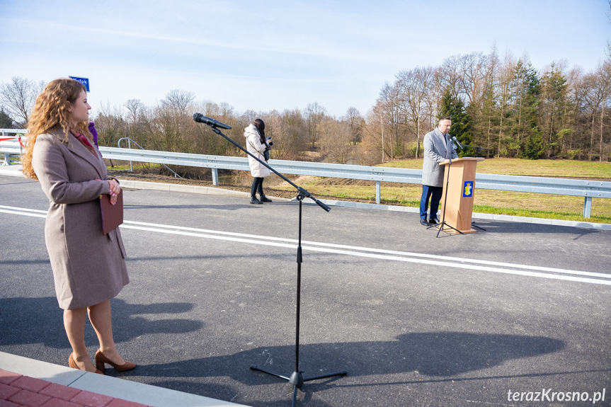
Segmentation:
[[(437, 210), (443, 193), (444, 167), (439, 163), (452, 157), (457, 159), (455, 149), (450, 142), (452, 119), (450, 116), (441, 117), (435, 130), (424, 136), (424, 161), (422, 164), (422, 197), (420, 199), (420, 223), (424, 226), (438, 224)], [(428, 200), (430, 199), (430, 217), (426, 220)]]

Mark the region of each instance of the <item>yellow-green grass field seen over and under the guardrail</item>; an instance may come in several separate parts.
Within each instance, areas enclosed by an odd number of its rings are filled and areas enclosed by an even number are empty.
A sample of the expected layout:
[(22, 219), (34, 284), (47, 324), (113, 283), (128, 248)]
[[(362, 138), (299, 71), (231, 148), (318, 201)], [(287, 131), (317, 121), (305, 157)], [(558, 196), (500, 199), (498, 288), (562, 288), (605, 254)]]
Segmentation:
[[(422, 168), (422, 160), (385, 163), (384, 166)], [(544, 176), (611, 181), (611, 164), (569, 160), (489, 159), (478, 164), (479, 173), (498, 173), (520, 176)], [(295, 182), (317, 197), (336, 197), (345, 200), (375, 202), (375, 182), (339, 180), (302, 176)], [(290, 185), (275, 187), (291, 190)], [(418, 207), (421, 185), (382, 183), (381, 200), (389, 205)], [(478, 190), (474, 195), (474, 212), (510, 214), (548, 219), (586, 220), (611, 224), (611, 200), (593, 198), (591, 217), (584, 219), (583, 197), (517, 193), (499, 190)]]

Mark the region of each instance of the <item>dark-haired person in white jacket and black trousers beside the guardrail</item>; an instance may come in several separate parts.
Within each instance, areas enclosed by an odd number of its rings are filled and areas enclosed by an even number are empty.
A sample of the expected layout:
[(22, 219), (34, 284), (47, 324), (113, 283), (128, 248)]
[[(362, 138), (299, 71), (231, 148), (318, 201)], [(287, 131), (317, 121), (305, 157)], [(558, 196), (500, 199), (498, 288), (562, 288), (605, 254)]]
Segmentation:
[[(249, 127), (244, 129), (244, 137), (246, 137), (246, 149), (249, 153), (256, 156), (261, 161), (267, 162), (263, 153), (270, 149), (271, 137), (265, 139), (265, 123), (261, 119), (255, 120)], [(261, 205), (263, 202), (272, 202), (265, 197), (263, 193), (263, 178), (271, 175), (270, 169), (260, 162), (249, 156), (249, 166), (251, 167), (251, 175), (253, 176), (253, 184), (251, 185), (251, 204)], [(259, 193), (257, 199), (256, 193)]]

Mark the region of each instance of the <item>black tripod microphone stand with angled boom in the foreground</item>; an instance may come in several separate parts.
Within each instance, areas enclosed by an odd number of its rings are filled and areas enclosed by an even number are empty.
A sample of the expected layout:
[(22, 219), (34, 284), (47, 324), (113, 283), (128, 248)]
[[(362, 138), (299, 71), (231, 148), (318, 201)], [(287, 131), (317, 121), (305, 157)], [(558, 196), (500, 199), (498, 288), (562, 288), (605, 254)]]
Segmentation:
[[(310, 382), (312, 380), (324, 379), (326, 377), (346, 376), (346, 374), (348, 374), (348, 371), (341, 370), (339, 372), (333, 372), (333, 373), (328, 373), (328, 374), (321, 374), (319, 376), (304, 378), (303, 377), (303, 371), (299, 370), (299, 311), (300, 311), (300, 304), (301, 304), (301, 265), (302, 265), (302, 258), (303, 258), (303, 256), (302, 256), (302, 245), (301, 245), (302, 244), (302, 201), (304, 200), (304, 198), (309, 197), (311, 200), (316, 202), (316, 205), (319, 205), (319, 207), (321, 207), (324, 210), (326, 210), (326, 212), (329, 212), (331, 210), (331, 208), (329, 206), (325, 205), (323, 202), (320, 202), (319, 200), (317, 200), (315, 197), (312, 196), (311, 193), (309, 193), (307, 190), (304, 190), (304, 188), (299, 187), (298, 185), (293, 183), (291, 180), (289, 180), (288, 178), (283, 176), (281, 173), (279, 173), (278, 171), (275, 171), (275, 169), (270, 167), (266, 162), (261, 161), (256, 156), (251, 154), (249, 151), (244, 149), (244, 147), (241, 147), (240, 144), (237, 144), (236, 142), (234, 142), (234, 140), (232, 140), (229, 137), (227, 137), (225, 134), (223, 134), (223, 132), (221, 132), (217, 128), (216, 123), (212, 123), (212, 124), (206, 123), (206, 124), (208, 126), (210, 126), (210, 128), (212, 129), (213, 132), (215, 132), (216, 134), (219, 134), (220, 136), (224, 137), (224, 139), (226, 139), (228, 142), (234, 144), (234, 146), (238, 147), (239, 149), (244, 151), (246, 154), (248, 154), (249, 156), (253, 157), (253, 159), (256, 159), (256, 161), (258, 161), (259, 163), (263, 164), (263, 166), (269, 168), (270, 171), (272, 171), (277, 176), (279, 176), (280, 178), (285, 180), (287, 183), (289, 183), (290, 185), (295, 187), (295, 189), (297, 189), (297, 200), (299, 201), (299, 240), (298, 240), (299, 243), (297, 244), (297, 299), (296, 299), (296, 302), (297, 302), (297, 311), (296, 311), (296, 318), (295, 318), (295, 371), (292, 372), (290, 377), (287, 377), (287, 376), (284, 376), (282, 374), (279, 374), (279, 373), (276, 373), (276, 372), (272, 372), (271, 370), (263, 369), (261, 367), (258, 367), (257, 365), (251, 365), (251, 369), (252, 370), (258, 370), (259, 372), (263, 372), (263, 373), (270, 374), (270, 375), (275, 376), (275, 377), (279, 377), (280, 379), (284, 379), (287, 382), (289, 382), (290, 384), (292, 384), (292, 386), (294, 387), (294, 389), (293, 389), (292, 407), (295, 407), (295, 405), (297, 403), (297, 388), (301, 387), (302, 384), (304, 384), (304, 382)], [(222, 125), (222, 123), (219, 123), (219, 125)], [(225, 125), (225, 126), (227, 126), (227, 125)], [(227, 126), (227, 127), (229, 127), (229, 126)], [(231, 128), (231, 127), (229, 127), (229, 128)]]

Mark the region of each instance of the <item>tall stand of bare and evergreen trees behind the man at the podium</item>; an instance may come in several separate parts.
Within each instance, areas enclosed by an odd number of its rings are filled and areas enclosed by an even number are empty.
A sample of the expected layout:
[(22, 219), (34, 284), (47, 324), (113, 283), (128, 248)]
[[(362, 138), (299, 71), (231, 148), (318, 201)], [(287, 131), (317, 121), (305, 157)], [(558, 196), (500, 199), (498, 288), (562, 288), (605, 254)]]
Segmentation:
[[(610, 59), (589, 72), (564, 61), (537, 71), (527, 55), (499, 57), (493, 48), (399, 72), (382, 88), (367, 123), (387, 129), (384, 155), (391, 159), (418, 156), (423, 134), (438, 117), (452, 115), (450, 133), (489, 156), (609, 161), (610, 102)], [(371, 137), (381, 146), (377, 133)]]

